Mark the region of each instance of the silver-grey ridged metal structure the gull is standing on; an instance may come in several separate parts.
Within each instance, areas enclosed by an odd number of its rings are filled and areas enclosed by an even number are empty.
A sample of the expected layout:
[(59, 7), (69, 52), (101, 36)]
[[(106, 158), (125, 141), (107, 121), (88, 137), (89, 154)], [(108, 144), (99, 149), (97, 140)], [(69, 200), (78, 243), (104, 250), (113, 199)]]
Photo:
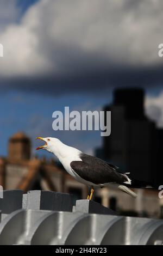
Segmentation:
[(4, 191), (1, 245), (162, 244), (163, 221), (117, 216), (89, 200), (51, 191)]

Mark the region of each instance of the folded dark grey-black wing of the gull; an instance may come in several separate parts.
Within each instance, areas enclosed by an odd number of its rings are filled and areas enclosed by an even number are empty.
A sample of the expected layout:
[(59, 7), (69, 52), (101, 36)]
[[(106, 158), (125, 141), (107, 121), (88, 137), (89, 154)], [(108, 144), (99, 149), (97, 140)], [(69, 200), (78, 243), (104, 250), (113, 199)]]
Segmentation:
[(72, 161), (71, 168), (76, 174), (93, 184), (104, 184), (109, 182), (123, 183), (127, 177), (117, 172), (117, 167), (98, 159), (97, 157), (81, 154), (82, 161)]

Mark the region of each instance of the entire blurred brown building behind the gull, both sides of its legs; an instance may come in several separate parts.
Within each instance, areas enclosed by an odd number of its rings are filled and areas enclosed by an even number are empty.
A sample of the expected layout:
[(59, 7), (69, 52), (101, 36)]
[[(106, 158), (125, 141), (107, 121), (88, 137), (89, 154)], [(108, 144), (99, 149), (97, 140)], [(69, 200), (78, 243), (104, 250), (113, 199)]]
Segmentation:
[[(54, 160), (32, 158), (30, 139), (22, 132), (9, 139), (8, 156), (0, 157), (0, 185), (4, 190), (51, 190), (71, 193), (74, 202), (76, 199), (85, 199), (88, 192), (85, 185), (74, 180)], [(137, 199), (111, 185), (109, 189), (96, 189), (95, 200), (123, 215), (160, 216), (161, 201), (158, 191), (135, 192), (139, 194)]]

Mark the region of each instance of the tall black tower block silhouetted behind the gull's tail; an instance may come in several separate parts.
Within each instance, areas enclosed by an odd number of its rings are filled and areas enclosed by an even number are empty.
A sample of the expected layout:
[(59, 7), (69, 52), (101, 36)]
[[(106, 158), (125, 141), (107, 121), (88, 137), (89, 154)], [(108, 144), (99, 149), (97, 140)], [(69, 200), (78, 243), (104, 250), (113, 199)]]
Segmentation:
[[(142, 89), (117, 89), (111, 111), (111, 135), (103, 137), (104, 159), (130, 172), (135, 186), (163, 184), (163, 131), (144, 113)], [(162, 183), (161, 183), (162, 182)]]

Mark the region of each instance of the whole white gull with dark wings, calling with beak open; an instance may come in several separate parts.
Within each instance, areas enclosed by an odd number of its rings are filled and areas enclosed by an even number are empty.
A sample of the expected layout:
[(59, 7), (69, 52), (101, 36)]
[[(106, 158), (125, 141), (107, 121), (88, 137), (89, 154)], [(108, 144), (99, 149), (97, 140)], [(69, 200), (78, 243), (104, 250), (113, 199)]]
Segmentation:
[(58, 157), (65, 170), (78, 182), (91, 187), (87, 199), (92, 200), (95, 187), (108, 187), (110, 183), (117, 184), (118, 188), (136, 198), (137, 195), (124, 184), (131, 185), (129, 173), (122, 172), (120, 168), (98, 159), (95, 156), (84, 154), (82, 151), (65, 145), (58, 138), (42, 138), (45, 144), (36, 148), (44, 149)]

